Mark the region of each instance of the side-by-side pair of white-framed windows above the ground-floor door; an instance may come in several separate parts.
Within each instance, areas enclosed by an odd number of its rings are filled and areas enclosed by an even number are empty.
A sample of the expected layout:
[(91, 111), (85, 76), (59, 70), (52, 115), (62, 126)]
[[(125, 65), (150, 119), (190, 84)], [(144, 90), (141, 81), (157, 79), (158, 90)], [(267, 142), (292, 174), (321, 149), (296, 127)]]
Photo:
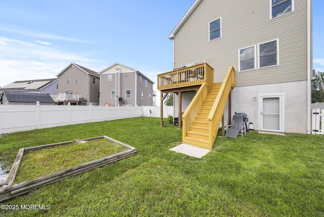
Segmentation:
[[(256, 55), (258, 49), (258, 59)], [(279, 40), (273, 40), (238, 50), (239, 71), (279, 65)]]

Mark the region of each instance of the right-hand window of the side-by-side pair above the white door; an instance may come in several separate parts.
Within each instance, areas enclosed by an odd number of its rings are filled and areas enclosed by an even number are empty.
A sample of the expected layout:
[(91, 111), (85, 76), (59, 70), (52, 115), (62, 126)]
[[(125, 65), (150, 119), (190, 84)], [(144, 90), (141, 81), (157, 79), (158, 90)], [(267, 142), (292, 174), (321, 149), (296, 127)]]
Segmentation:
[(259, 68), (270, 65), (279, 65), (278, 42), (279, 40), (277, 39), (258, 45)]

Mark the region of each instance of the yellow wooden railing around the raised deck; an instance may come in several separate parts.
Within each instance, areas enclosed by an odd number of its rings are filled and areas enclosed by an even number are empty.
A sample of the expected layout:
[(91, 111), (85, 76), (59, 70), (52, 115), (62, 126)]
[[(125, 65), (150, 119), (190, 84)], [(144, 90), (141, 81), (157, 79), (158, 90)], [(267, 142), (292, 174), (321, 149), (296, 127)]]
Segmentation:
[(214, 69), (206, 62), (157, 75), (158, 90), (201, 85), (204, 82), (208, 85), (214, 83)]

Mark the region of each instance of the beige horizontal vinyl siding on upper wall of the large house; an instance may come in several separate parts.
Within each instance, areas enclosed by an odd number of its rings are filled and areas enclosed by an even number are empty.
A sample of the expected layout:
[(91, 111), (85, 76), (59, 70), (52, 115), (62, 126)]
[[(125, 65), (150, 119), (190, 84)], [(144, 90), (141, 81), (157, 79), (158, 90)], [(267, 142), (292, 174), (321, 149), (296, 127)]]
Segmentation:
[[(175, 34), (174, 68), (210, 59), (214, 82), (222, 82), (229, 66), (239, 70), (238, 49), (280, 39), (280, 66), (236, 73), (235, 87), (307, 80), (307, 1), (294, 2), (294, 13), (269, 20), (268, 1), (201, 1)], [(215, 16), (222, 17), (222, 37), (210, 43)]]

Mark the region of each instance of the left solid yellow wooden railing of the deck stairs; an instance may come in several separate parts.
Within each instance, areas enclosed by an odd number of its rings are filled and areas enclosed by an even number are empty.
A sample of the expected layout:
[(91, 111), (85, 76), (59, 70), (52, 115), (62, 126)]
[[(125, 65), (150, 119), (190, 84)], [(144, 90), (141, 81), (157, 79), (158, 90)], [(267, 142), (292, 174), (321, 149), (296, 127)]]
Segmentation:
[(192, 126), (192, 122), (197, 117), (198, 112), (203, 104), (209, 90), (209, 85), (207, 82), (204, 82), (197, 93), (194, 95), (190, 104), (188, 105), (186, 111), (182, 115), (182, 139), (187, 136), (187, 132), (190, 130)]

